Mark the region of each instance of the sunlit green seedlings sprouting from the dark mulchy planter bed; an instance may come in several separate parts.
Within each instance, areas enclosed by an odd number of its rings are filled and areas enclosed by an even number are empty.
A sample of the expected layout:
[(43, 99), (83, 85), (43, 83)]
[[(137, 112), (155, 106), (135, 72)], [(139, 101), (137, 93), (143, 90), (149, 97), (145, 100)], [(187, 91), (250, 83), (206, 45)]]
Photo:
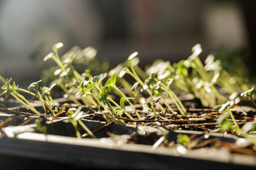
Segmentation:
[[(247, 71), (242, 62), (235, 65), (234, 58), (242, 55), (241, 47), (228, 53), (221, 50), (213, 55), (208, 55), (205, 64), (201, 62), (199, 55), (202, 52), (201, 45), (192, 48), (192, 55), (187, 60), (171, 64), (169, 61), (156, 60), (153, 64), (142, 69), (139, 67), (138, 52), (132, 53), (124, 63), (118, 64), (109, 70), (109, 64), (97, 61), (96, 50), (92, 47), (85, 50), (73, 49), (63, 57), (59, 57), (58, 50), (63, 43), (53, 45), (43, 61), (53, 60), (57, 67), (50, 70), (53, 74), (44, 74), (43, 80), (51, 80), (50, 86), (40, 86), (42, 80), (33, 82), (28, 89), (21, 89), (15, 82), (11, 85), (11, 79), (5, 81), (2, 89), (6, 98), (12, 96), (35, 115), (45, 115), (54, 122), (65, 108), (69, 108), (68, 122), (75, 128), (77, 137), (81, 137), (78, 124), (92, 136), (93, 133), (82, 123), (83, 106), (91, 106), (101, 113), (107, 123), (126, 124), (127, 121), (134, 125), (144, 125), (146, 120), (169, 121), (166, 113), (186, 116), (189, 106), (184, 106), (182, 94), (192, 94), (203, 107), (216, 107), (223, 113), (218, 120), (220, 131), (233, 130), (242, 137), (247, 137), (256, 144), (256, 140), (248, 132), (245, 132), (237, 124), (230, 108), (246, 96), (250, 98), (254, 106), (254, 85), (247, 78)], [(78, 67), (78, 60), (83, 67)], [(97, 66), (97, 69), (93, 66)], [(76, 67), (75, 67), (76, 66)], [(99, 69), (100, 68), (100, 69)], [(99, 73), (102, 71), (101, 73)], [(58, 86), (65, 98), (70, 98), (72, 104), (65, 104), (61, 108), (55, 106), (51, 91)], [(250, 90), (248, 90), (250, 89)], [(243, 92), (245, 91), (245, 92)], [(43, 111), (36, 110), (31, 102), (21, 93), (38, 98)], [(240, 96), (238, 94), (241, 94)], [(241, 98), (242, 97), (242, 98)], [(139, 107), (137, 103), (139, 103)], [(223, 104), (225, 103), (225, 104)], [(223, 105), (222, 105), (223, 104)], [(142, 112), (143, 111), (143, 112)], [(228, 114), (227, 114), (228, 111)], [(233, 123), (228, 118), (233, 120)], [(38, 129), (46, 132), (41, 120), (37, 122)], [(189, 139), (185, 135), (179, 135), (178, 141), (189, 148)]]

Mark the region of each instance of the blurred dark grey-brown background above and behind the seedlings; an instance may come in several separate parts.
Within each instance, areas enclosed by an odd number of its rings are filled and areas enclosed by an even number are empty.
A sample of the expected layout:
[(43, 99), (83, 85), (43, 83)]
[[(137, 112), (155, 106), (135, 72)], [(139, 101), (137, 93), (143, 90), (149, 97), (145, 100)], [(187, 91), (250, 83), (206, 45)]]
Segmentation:
[(202, 59), (219, 45), (245, 45), (253, 69), (255, 1), (0, 0), (0, 74), (18, 84), (40, 79), (40, 63), (56, 42), (60, 54), (95, 47), (112, 67), (139, 52), (142, 66), (186, 59), (201, 43)]

